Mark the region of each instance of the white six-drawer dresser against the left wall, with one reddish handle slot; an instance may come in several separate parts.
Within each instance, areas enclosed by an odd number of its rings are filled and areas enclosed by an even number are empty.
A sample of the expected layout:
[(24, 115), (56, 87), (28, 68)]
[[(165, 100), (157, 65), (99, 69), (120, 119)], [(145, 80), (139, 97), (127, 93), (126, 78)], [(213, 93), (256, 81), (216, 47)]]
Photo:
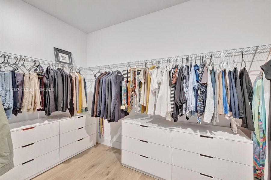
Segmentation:
[(31, 179), (96, 144), (96, 118), (83, 113), (11, 123), (14, 168), (1, 180)]

